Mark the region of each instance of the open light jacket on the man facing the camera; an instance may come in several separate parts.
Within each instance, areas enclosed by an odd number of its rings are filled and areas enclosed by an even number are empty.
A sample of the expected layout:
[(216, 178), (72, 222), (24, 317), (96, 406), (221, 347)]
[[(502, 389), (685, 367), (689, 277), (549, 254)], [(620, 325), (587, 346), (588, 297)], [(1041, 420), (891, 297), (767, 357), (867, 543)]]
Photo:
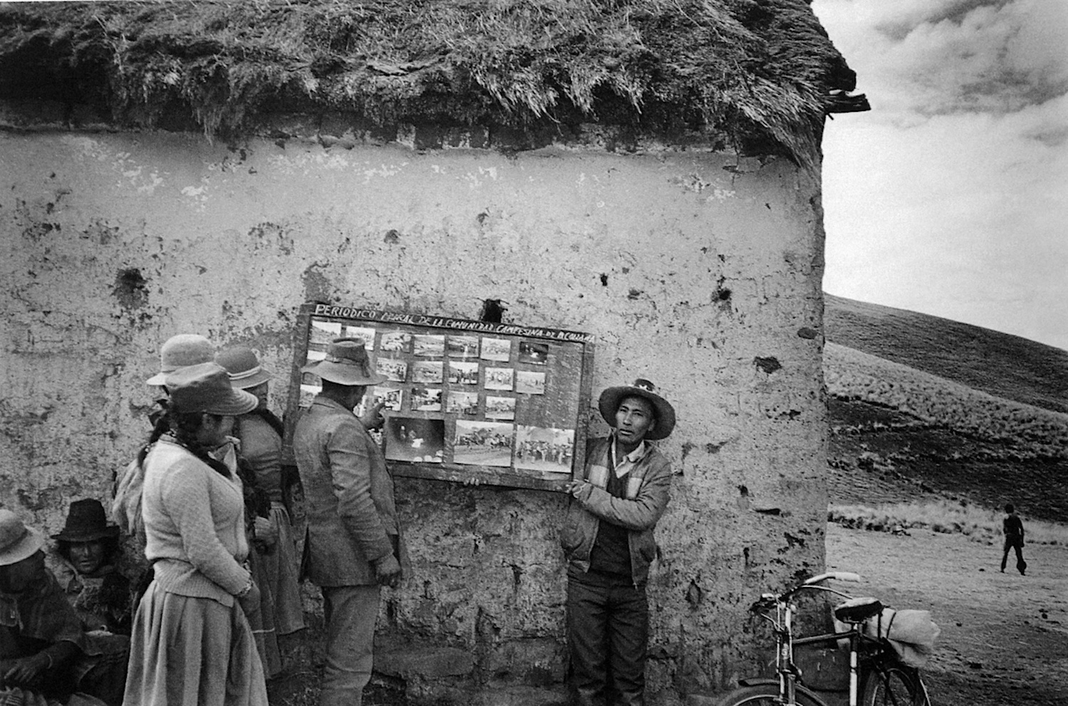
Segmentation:
[(567, 561), (581, 571), (590, 570), (590, 552), (601, 521), (629, 530), (630, 571), (634, 585), (649, 577), (649, 564), (656, 559), (657, 543), (653, 528), (671, 499), (671, 462), (646, 442), (646, 454), (628, 472), (626, 498), (616, 498), (604, 489), (609, 470), (609, 444), (614, 439), (591, 439), (586, 443), (586, 465), (582, 469), (584, 486), (571, 498), (560, 536)]

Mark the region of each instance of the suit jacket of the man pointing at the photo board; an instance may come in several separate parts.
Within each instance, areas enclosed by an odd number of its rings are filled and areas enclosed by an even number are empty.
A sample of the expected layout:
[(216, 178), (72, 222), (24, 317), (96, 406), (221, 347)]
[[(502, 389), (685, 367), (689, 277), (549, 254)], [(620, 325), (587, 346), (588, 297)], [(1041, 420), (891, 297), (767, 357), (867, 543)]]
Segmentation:
[(320, 586), (372, 585), (372, 562), (395, 553), (406, 566), (393, 478), (356, 415), (316, 396), (297, 422), (293, 451), (308, 513), (301, 574)]

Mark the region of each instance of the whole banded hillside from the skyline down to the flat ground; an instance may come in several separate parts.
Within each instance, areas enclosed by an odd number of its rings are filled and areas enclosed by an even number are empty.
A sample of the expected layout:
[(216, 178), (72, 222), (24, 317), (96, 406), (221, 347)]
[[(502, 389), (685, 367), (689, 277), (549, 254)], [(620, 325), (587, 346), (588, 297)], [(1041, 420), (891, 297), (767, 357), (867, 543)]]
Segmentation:
[(833, 502), (1012, 502), (1068, 522), (1068, 352), (837, 297), (827, 335)]

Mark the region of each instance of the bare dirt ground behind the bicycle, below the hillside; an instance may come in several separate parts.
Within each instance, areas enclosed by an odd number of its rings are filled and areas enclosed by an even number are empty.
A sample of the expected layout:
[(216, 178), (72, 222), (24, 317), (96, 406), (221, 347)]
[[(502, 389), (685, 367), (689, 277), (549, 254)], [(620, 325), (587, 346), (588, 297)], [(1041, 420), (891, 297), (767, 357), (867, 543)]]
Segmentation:
[(910, 534), (828, 525), (829, 570), (893, 608), (931, 611), (942, 628), (924, 671), (934, 706), (1068, 704), (1068, 547), (1027, 545), (1026, 576), (1001, 547), (961, 534)]

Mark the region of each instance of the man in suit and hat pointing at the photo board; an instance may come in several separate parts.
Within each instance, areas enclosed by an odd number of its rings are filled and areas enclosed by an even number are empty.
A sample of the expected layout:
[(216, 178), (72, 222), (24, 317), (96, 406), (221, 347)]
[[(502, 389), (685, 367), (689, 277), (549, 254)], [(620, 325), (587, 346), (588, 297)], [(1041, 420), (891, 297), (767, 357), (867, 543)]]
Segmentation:
[(323, 380), (293, 437), (308, 507), (302, 568), (321, 589), (328, 616), (319, 703), (359, 706), (371, 680), (380, 589), (397, 585), (406, 563), (393, 478), (367, 434), (381, 424), (381, 404), (364, 420), (352, 413), (386, 376), (360, 339), (334, 340), (323, 360), (301, 371)]

